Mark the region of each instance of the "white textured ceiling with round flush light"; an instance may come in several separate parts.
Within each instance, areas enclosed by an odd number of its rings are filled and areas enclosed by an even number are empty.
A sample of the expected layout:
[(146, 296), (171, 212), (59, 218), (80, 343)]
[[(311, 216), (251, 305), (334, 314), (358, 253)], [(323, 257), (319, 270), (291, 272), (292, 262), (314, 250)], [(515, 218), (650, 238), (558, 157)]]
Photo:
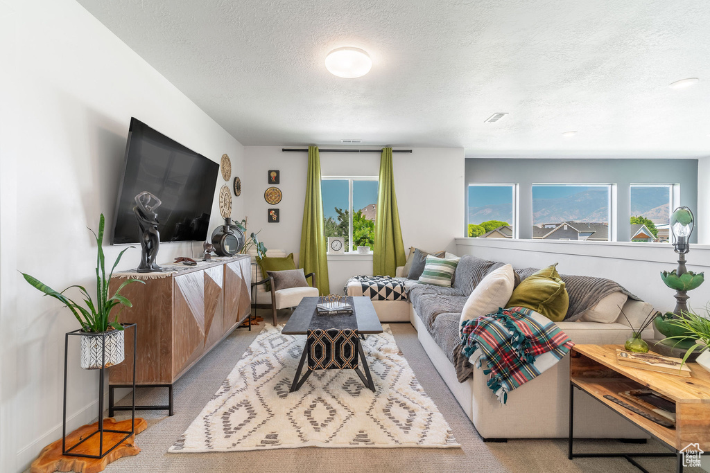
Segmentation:
[[(79, 3), (244, 145), (710, 155), (706, 0)], [(371, 72), (329, 74), (341, 46)]]

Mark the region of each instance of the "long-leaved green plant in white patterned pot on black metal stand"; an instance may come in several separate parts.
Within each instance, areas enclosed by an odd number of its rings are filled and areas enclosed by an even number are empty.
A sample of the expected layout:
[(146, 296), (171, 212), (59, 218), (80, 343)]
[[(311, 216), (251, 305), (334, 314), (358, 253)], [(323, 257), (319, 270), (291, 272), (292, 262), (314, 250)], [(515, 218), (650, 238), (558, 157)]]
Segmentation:
[[(91, 233), (94, 230), (89, 228)], [(129, 248), (121, 251), (119, 256), (116, 257), (114, 262), (114, 267), (111, 268), (111, 273), (109, 277), (106, 277), (106, 269), (104, 267), (104, 249), (102, 243), (104, 241), (104, 214), (101, 214), (99, 218), (99, 234), (94, 233), (96, 238), (97, 246), (99, 247), (97, 252), (97, 268), (96, 268), (96, 287), (97, 287), (97, 301), (94, 304), (94, 299), (89, 295), (84, 286), (73, 285), (69, 286), (61, 292), (55, 291), (47, 284), (40, 282), (35, 277), (29, 274), (22, 273), (25, 280), (31, 284), (35, 289), (42, 291), (46, 296), (51, 296), (58, 301), (65, 304), (70, 311), (74, 314), (81, 325), (81, 367), (83, 369), (99, 369), (102, 368), (102, 360), (105, 357), (105, 364), (103, 366), (109, 367), (112, 365), (117, 365), (124, 360), (124, 328), (118, 323), (119, 312), (116, 312), (116, 316), (111, 318), (111, 312), (116, 306), (126, 306), (131, 307), (131, 301), (126, 299), (126, 297), (119, 294), (124, 287), (128, 286), (133, 282), (140, 282), (141, 284), (146, 284), (139, 279), (127, 279), (112, 296), (109, 296), (109, 282), (111, 281), (111, 276), (114, 274), (114, 269), (116, 265), (121, 261), (121, 257), (124, 252)], [(133, 248), (131, 246), (130, 248)], [(80, 306), (72, 299), (64, 295), (67, 289), (76, 287), (84, 296), (84, 305)], [(105, 350), (102, 350), (102, 345), (105, 344)]]

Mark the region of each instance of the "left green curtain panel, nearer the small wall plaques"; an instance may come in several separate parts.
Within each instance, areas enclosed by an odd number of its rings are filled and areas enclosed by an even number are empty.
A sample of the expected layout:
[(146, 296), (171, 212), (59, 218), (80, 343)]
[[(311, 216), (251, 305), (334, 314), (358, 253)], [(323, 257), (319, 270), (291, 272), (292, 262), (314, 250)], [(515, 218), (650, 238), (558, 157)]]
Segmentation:
[(321, 295), (330, 294), (325, 230), (323, 228), (323, 198), (320, 191), (320, 154), (317, 146), (308, 147), (306, 201), (303, 205), (301, 251), (298, 266), (303, 272), (315, 273), (313, 286)]

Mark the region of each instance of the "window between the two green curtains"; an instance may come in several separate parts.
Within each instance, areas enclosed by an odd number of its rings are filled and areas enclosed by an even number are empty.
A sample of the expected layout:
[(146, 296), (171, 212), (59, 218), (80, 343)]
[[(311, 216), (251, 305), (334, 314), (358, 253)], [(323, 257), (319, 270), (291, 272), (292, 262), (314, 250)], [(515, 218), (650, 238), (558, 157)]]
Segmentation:
[(375, 245), (377, 177), (323, 177), (325, 238), (345, 239), (345, 248)]

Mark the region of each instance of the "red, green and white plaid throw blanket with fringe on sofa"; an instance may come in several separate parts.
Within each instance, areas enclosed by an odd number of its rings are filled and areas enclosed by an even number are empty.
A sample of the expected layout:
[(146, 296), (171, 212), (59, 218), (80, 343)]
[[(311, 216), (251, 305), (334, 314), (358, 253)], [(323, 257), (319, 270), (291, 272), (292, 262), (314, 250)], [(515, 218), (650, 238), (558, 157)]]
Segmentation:
[(461, 340), (471, 365), (488, 365), (488, 387), (502, 404), (510, 391), (540, 376), (574, 346), (554, 322), (523, 307), (461, 323)]

